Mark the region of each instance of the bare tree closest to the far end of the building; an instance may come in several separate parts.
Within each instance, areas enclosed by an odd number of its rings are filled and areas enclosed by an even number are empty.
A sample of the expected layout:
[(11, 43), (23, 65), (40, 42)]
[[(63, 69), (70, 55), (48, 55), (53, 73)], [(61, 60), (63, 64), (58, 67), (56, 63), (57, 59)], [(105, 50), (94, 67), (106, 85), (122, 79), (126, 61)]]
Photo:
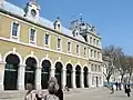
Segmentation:
[(108, 82), (110, 82), (110, 78), (114, 72), (114, 66), (113, 63), (115, 62), (115, 47), (110, 46), (103, 49), (103, 61), (104, 61), (104, 67), (106, 69), (103, 74), (105, 76)]

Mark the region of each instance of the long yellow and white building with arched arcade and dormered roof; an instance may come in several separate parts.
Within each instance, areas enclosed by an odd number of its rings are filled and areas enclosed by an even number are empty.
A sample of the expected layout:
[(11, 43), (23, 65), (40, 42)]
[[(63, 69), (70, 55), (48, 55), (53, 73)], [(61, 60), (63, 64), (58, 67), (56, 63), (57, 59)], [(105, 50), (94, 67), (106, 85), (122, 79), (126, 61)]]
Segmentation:
[(62, 87), (102, 87), (102, 44), (82, 20), (62, 27), (40, 17), (34, 0), (21, 9), (0, 1), (0, 90), (47, 89), (50, 77)]

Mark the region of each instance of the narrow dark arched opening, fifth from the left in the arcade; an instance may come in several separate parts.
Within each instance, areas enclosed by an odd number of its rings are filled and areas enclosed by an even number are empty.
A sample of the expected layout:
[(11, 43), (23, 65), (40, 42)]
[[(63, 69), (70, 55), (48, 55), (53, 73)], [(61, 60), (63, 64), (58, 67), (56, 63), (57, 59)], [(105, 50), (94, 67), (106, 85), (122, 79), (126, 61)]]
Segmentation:
[(66, 86), (69, 88), (72, 88), (72, 64), (71, 63), (66, 63)]

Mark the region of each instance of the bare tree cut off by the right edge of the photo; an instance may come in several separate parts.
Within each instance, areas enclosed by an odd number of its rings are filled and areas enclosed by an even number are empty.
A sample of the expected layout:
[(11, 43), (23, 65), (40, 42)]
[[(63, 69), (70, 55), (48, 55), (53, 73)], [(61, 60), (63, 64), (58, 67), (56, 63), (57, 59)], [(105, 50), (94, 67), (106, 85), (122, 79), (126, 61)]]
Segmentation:
[(127, 73), (130, 74), (130, 77), (129, 77), (129, 82), (130, 82), (131, 76), (133, 73), (133, 57), (127, 56), (126, 57), (126, 63), (127, 63)]

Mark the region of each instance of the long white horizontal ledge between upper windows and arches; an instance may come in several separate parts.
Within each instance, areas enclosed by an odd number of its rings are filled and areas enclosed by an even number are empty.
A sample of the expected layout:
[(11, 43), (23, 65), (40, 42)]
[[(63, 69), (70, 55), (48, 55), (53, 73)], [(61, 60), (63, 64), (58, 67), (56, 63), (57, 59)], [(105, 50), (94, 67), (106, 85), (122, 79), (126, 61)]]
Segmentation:
[(61, 52), (61, 51), (58, 51), (58, 50), (45, 49), (45, 48), (42, 48), (42, 47), (39, 47), (39, 46), (29, 44), (29, 43), (24, 43), (24, 42), (20, 42), (20, 41), (17, 42), (17, 41), (12, 41), (11, 39), (7, 39), (7, 38), (2, 38), (2, 37), (0, 37), (0, 40), (4, 40), (4, 41), (8, 41), (8, 42), (13, 42), (13, 43), (18, 43), (18, 44), (23, 44), (23, 46), (31, 47), (31, 48), (38, 48), (38, 49), (42, 49), (42, 50), (47, 50), (47, 51), (51, 51), (51, 52), (55, 52), (55, 53), (61, 53), (61, 54), (65, 54), (65, 56), (74, 57), (74, 58), (89, 60), (88, 58), (83, 58), (83, 57), (75, 56), (75, 54), (72, 54), (72, 53), (65, 53), (65, 52)]

